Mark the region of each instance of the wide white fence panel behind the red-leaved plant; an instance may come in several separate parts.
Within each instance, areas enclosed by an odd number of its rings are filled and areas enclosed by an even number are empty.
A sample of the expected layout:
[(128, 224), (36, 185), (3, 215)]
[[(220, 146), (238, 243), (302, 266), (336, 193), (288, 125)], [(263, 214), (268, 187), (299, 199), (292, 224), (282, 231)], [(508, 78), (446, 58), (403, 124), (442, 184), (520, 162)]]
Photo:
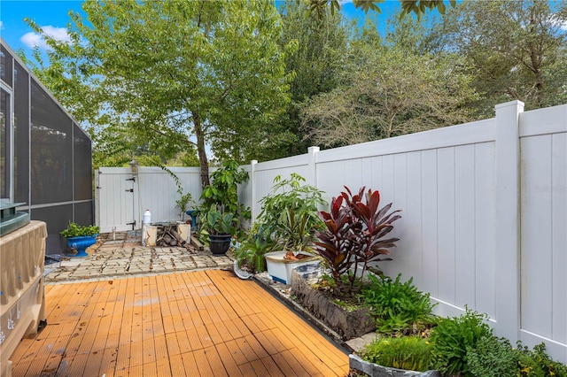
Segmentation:
[(489, 119), (316, 156), (317, 185), (328, 198), (345, 185), (366, 186), (380, 190), (382, 205), (402, 210), (394, 260), (380, 268), (413, 277), (439, 314), (468, 304), (494, 316), (494, 127)]

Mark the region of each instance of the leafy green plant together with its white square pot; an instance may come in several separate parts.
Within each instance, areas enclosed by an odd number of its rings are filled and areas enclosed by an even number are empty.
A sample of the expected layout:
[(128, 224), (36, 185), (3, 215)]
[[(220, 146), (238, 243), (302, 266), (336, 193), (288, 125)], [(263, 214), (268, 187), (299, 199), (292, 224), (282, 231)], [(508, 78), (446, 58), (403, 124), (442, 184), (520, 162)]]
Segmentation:
[(268, 196), (260, 201), (260, 235), (279, 249), (265, 255), (268, 274), (285, 284), (291, 283), (295, 266), (316, 260), (312, 252), (315, 230), (323, 226), (317, 216), (317, 207), (326, 204), (322, 191), (304, 182), (297, 173), (284, 180), (278, 175)]

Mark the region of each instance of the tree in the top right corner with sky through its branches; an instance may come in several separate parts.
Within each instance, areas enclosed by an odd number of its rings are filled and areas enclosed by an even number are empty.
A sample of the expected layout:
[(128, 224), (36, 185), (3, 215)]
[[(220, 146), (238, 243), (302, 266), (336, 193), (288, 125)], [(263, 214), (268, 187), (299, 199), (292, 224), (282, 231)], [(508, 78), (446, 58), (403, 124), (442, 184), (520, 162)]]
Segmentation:
[(462, 72), (475, 76), (483, 116), (513, 99), (526, 109), (567, 101), (567, 4), (554, 6), (545, 0), (464, 2), (431, 36), (437, 50), (467, 58)]

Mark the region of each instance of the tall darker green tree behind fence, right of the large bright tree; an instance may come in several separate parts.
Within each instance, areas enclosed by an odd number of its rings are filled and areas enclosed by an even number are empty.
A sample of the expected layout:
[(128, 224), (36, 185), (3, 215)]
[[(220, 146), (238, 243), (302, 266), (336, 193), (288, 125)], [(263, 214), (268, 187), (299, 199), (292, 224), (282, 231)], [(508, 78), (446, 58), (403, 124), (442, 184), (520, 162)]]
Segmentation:
[[(300, 127), (302, 103), (311, 96), (336, 88), (345, 69), (349, 41), (348, 24), (340, 15), (326, 12), (320, 18), (307, 17), (307, 4), (286, 1), (282, 14), (283, 33), (280, 45), (297, 43), (293, 53), (286, 54), (286, 73), (290, 83), (291, 102), (277, 119), (265, 158), (282, 158), (305, 153), (313, 145)], [(268, 153), (269, 152), (269, 153)]]

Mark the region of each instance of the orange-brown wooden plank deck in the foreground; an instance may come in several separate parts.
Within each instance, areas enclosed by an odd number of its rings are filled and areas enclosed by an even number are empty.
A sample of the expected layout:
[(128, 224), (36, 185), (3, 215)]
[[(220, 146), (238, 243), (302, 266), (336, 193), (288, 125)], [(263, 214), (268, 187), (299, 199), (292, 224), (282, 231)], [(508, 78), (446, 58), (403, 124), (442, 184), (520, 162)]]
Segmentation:
[(348, 357), (253, 281), (209, 270), (46, 286), (13, 376), (345, 376)]

